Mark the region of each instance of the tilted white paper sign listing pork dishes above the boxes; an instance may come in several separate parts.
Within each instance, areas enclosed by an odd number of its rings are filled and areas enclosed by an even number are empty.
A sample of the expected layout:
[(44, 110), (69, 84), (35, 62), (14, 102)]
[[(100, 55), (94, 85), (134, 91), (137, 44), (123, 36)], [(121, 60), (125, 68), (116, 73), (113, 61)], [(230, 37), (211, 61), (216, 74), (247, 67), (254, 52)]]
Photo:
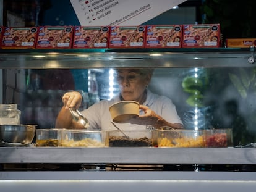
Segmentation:
[(83, 26), (140, 25), (186, 0), (70, 0)]

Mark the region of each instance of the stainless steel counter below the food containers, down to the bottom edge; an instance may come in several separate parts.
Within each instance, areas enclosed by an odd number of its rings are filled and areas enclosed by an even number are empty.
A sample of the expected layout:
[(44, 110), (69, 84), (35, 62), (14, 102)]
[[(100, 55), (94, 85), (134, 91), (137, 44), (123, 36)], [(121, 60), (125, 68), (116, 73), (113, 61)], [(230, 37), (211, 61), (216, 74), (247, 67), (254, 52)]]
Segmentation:
[[(1, 164), (241, 164), (255, 166), (255, 148), (2, 147)], [(0, 171), (1, 191), (254, 191), (255, 171)], [(43, 188), (38, 186), (42, 186)]]

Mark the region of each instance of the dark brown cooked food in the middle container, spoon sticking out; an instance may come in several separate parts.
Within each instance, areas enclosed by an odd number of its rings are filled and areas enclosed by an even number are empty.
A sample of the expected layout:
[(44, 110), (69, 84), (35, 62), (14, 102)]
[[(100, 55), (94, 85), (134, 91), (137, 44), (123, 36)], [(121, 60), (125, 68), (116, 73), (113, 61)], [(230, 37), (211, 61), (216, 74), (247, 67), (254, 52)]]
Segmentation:
[(147, 137), (126, 138), (125, 136), (109, 136), (109, 147), (151, 147), (153, 141)]

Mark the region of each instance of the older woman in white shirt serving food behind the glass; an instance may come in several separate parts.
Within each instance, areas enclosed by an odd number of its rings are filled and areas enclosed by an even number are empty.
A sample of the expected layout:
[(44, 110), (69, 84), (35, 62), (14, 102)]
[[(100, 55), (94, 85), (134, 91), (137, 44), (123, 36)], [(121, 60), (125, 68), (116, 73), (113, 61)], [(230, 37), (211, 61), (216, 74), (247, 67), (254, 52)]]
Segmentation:
[[(140, 115), (129, 123), (120, 123), (122, 129), (145, 129), (147, 125), (155, 128), (169, 126), (183, 128), (181, 119), (177, 115), (176, 107), (171, 99), (158, 96), (147, 89), (153, 75), (153, 69), (117, 69), (116, 78), (121, 93), (110, 101), (100, 101), (82, 111), (90, 122), (90, 128), (101, 130), (116, 130), (111, 123), (109, 106), (119, 101), (132, 100), (140, 103)], [(80, 107), (82, 96), (79, 92), (72, 91), (62, 97), (64, 106), (56, 119), (55, 128), (82, 128), (72, 121), (69, 107)]]

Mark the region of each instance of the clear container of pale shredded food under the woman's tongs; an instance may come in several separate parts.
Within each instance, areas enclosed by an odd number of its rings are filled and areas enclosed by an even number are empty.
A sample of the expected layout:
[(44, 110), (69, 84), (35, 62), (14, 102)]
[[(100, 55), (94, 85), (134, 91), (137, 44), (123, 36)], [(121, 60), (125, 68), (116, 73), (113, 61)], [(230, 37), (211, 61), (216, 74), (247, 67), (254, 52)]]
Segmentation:
[(101, 130), (63, 130), (62, 147), (104, 147), (105, 132)]

